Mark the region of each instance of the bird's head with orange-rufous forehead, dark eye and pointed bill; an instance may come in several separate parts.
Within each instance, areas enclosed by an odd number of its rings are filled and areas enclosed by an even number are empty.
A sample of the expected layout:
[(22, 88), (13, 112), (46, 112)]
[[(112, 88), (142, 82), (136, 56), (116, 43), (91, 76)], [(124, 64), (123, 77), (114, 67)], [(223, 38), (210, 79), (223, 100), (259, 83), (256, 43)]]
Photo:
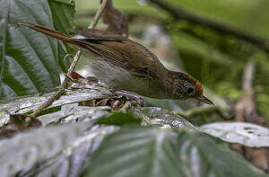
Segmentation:
[(174, 99), (195, 99), (200, 102), (214, 105), (212, 101), (204, 96), (203, 87), (200, 81), (190, 75), (180, 72), (172, 72), (171, 75), (173, 75), (172, 94)]

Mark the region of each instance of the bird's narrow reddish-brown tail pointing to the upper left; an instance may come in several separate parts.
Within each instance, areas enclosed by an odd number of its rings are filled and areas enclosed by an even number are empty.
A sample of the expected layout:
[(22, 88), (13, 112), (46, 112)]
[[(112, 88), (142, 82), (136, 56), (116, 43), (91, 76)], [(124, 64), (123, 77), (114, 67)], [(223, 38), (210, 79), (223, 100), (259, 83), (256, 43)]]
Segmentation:
[(26, 26), (32, 30), (35, 30), (35, 31), (39, 31), (39, 32), (42, 32), (44, 34), (47, 34), (51, 37), (54, 37), (58, 40), (63, 40), (65, 42), (68, 42), (68, 43), (71, 43), (71, 44), (74, 44), (76, 46), (80, 46), (78, 42), (75, 42), (72, 38), (66, 36), (65, 34), (59, 32), (59, 31), (54, 31), (54, 30), (51, 30), (45, 26), (42, 26), (42, 25), (39, 25), (39, 24), (32, 24), (30, 22), (19, 22), (18, 24), (20, 25), (23, 25), (23, 26)]

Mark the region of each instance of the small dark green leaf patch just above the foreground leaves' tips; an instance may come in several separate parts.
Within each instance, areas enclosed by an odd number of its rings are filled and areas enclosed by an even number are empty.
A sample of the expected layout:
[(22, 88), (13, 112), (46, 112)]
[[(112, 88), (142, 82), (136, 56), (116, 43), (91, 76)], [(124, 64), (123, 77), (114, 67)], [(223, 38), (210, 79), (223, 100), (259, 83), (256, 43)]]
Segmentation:
[(108, 125), (124, 125), (127, 123), (140, 123), (142, 120), (134, 118), (131, 114), (116, 112), (108, 117), (103, 117), (97, 120), (98, 124)]

